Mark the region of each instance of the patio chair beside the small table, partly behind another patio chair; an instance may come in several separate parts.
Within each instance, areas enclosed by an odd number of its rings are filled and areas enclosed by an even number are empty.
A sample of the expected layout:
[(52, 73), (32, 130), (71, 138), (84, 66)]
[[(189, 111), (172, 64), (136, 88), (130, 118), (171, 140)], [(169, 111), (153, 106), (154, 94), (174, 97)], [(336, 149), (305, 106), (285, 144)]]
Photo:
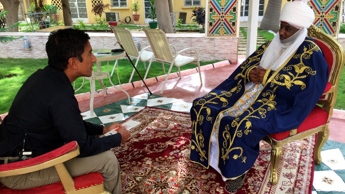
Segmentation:
[[(128, 56), (130, 58), (133, 58), (133, 59), (137, 60), (135, 62), (135, 67), (137, 67), (139, 61), (142, 61), (142, 62), (144, 62), (144, 68), (146, 70), (145, 61), (150, 61), (150, 63), (149, 63), (149, 65), (150, 65), (151, 62), (152, 62), (152, 57), (154, 55), (152, 52), (146, 51), (146, 49), (149, 48), (149, 47), (145, 47), (144, 49), (142, 49), (139, 52), (139, 50), (137, 48), (137, 45), (136, 45), (136, 42), (134, 41), (132, 33), (130, 32), (129, 29), (122, 28), (122, 27), (117, 27), (117, 26), (112, 26), (112, 25), (110, 25), (109, 27), (114, 32), (114, 35), (115, 35), (117, 41), (121, 40), (121, 45), (122, 45), (122, 47), (124, 47), (124, 49), (125, 49), (126, 53), (128, 54)], [(137, 42), (137, 43), (140, 44), (140, 42)], [(141, 44), (139, 46), (142, 47)], [(114, 73), (115, 67), (117, 67), (117, 61), (118, 60), (115, 61), (115, 65), (114, 65), (114, 68), (111, 71), (110, 76), (112, 76), (112, 74)], [(133, 78), (133, 75), (134, 75), (134, 71), (135, 71), (135, 69), (133, 68), (133, 71), (132, 71), (132, 74), (131, 74), (131, 76), (129, 78), (128, 83), (131, 82), (131, 80)], [(119, 72), (117, 72), (117, 74), (119, 74)], [(117, 75), (117, 77), (119, 78), (119, 75)]]

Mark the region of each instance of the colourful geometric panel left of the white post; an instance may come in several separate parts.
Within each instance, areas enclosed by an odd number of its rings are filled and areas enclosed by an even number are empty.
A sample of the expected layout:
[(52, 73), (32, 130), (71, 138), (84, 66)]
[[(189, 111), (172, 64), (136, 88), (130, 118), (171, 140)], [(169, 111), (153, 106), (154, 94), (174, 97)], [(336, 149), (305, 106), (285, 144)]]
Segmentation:
[(236, 37), (238, 0), (209, 0), (207, 37)]

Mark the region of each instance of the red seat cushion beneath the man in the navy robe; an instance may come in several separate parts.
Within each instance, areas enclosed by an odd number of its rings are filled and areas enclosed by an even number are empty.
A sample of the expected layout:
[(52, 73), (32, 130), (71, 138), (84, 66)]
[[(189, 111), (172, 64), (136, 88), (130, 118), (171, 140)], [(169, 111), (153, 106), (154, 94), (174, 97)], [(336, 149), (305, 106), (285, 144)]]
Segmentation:
[[(326, 124), (328, 119), (328, 113), (323, 110), (320, 106), (316, 105), (312, 112), (307, 116), (307, 118), (302, 122), (302, 124), (297, 128), (297, 133), (313, 129), (320, 125)], [(268, 136), (272, 137), (277, 141), (281, 141), (286, 137), (290, 136), (290, 131), (280, 132), (269, 134)]]

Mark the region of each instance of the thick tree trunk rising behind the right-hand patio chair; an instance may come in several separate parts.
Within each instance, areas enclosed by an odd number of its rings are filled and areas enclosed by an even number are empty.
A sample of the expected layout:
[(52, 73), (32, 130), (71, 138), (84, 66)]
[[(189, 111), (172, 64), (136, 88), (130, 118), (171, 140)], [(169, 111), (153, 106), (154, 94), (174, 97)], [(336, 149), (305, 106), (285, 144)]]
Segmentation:
[(172, 31), (168, 0), (155, 1), (155, 8), (158, 28), (163, 30), (165, 33), (174, 33)]

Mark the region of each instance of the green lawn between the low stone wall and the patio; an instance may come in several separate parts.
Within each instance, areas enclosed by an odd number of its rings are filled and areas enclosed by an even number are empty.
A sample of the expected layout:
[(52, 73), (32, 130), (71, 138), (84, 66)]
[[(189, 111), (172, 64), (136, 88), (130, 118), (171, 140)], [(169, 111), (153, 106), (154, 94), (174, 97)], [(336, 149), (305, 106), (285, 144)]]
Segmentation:
[[(207, 65), (212, 64), (217, 61), (200, 61), (200, 65)], [(134, 61), (135, 62), (135, 61)], [(114, 67), (115, 60), (109, 61), (109, 71), (111, 72), (112, 68)], [(48, 59), (14, 59), (14, 58), (4, 58), (0, 60), (0, 85), (1, 85), (1, 93), (0, 93), (0, 114), (8, 112), (14, 97), (16, 96), (18, 90), (22, 86), (25, 80), (34, 73), (38, 69), (44, 68), (48, 64)], [(107, 71), (107, 62), (102, 62), (102, 71)], [(146, 66), (148, 66), (148, 62), (146, 62)], [(181, 71), (185, 69), (196, 68), (197, 65), (194, 64), (186, 64), (180, 67)], [(94, 67), (96, 69), (96, 65)], [(146, 70), (144, 69), (143, 63), (140, 61), (137, 69), (144, 78)], [(119, 76), (121, 83), (128, 83), (130, 75), (132, 73), (133, 66), (130, 62), (126, 59), (119, 60)], [(166, 73), (169, 70), (169, 65), (165, 65)], [(177, 67), (173, 67), (171, 72), (177, 72)], [(164, 75), (162, 70), (161, 63), (152, 62), (149, 74), (147, 78), (156, 77), (159, 75)], [(132, 82), (140, 80), (137, 73), (133, 76)], [(111, 81), (118, 85), (118, 79), (116, 70), (111, 77)], [(103, 79), (103, 82), (106, 87), (110, 87), (111, 84), (109, 80)], [(79, 88), (82, 83), (82, 78), (78, 78), (76, 80), (75, 88)], [(102, 89), (101, 85), (98, 81), (96, 81), (96, 90)], [(85, 93), (90, 91), (90, 82), (89, 80), (85, 80), (84, 86), (76, 92)]]

